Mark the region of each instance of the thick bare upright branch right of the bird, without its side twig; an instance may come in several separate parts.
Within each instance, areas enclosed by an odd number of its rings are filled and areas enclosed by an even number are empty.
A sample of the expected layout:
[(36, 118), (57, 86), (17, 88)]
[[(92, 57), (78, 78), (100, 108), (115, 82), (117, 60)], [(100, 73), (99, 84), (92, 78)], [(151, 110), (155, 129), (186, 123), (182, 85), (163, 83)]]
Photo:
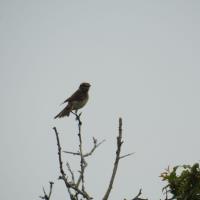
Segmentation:
[(117, 172), (119, 160), (120, 160), (120, 152), (121, 152), (122, 144), (123, 144), (123, 141), (122, 141), (122, 118), (119, 118), (119, 135), (117, 137), (116, 157), (115, 157), (114, 167), (113, 167), (113, 171), (112, 171), (112, 176), (111, 176), (111, 179), (110, 179), (110, 182), (109, 182), (109, 185), (108, 185), (108, 189), (107, 189), (107, 191), (106, 191), (106, 193), (103, 197), (103, 200), (107, 200), (109, 195), (110, 195), (110, 192), (111, 192), (111, 189), (112, 189), (112, 186), (113, 186), (113, 183), (114, 183), (115, 175), (116, 175), (116, 172)]

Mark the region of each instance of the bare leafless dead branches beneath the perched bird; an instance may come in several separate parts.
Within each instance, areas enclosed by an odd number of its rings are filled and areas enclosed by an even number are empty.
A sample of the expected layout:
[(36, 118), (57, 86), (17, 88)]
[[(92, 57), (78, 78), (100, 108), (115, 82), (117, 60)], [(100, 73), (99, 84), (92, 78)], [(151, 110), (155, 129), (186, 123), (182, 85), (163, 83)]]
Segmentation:
[[(73, 112), (72, 112), (73, 113)], [(82, 141), (82, 132), (81, 132), (81, 127), (82, 127), (82, 121), (81, 121), (81, 114), (73, 113), (76, 117), (76, 121), (78, 122), (78, 140), (79, 140), (79, 147), (77, 152), (72, 152), (72, 151), (62, 151), (61, 143), (60, 143), (60, 138), (59, 138), (59, 133), (57, 131), (56, 127), (53, 127), (55, 136), (56, 136), (56, 142), (57, 142), (57, 150), (58, 150), (58, 163), (59, 163), (59, 179), (62, 180), (66, 186), (66, 189), (69, 193), (70, 199), (71, 200), (91, 200), (93, 199), (92, 195), (87, 191), (85, 188), (85, 169), (87, 167), (87, 161), (86, 158), (88, 156), (91, 156), (93, 152), (99, 147), (105, 140), (102, 140), (98, 142), (96, 138), (93, 138), (93, 147), (91, 150), (87, 153), (83, 151), (83, 141)], [(113, 183), (115, 180), (115, 176), (117, 173), (117, 169), (119, 166), (119, 161), (125, 157), (128, 157), (132, 155), (133, 153), (129, 153), (126, 155), (121, 155), (121, 148), (123, 145), (123, 140), (122, 140), (122, 118), (119, 118), (119, 127), (118, 127), (118, 136), (117, 136), (117, 145), (116, 145), (116, 154), (115, 154), (115, 160), (113, 164), (113, 170), (112, 174), (110, 177), (110, 181), (108, 183), (108, 187), (105, 191), (105, 194), (101, 197), (102, 200), (108, 200), (109, 195), (111, 193), (111, 190), (113, 188)], [(67, 176), (66, 171), (63, 167), (63, 159), (62, 159), (62, 153), (67, 153), (71, 154), (74, 156), (78, 156), (80, 158), (80, 170), (79, 170), (79, 176), (76, 178), (73, 170), (70, 167), (70, 163), (66, 163), (66, 170), (67, 173), (70, 176)], [(43, 193), (44, 196), (40, 196), (41, 199), (45, 200), (50, 200), (51, 198), (51, 193), (52, 193), (52, 188), (53, 188), (53, 182), (50, 182), (50, 192), (47, 194), (43, 188)], [(138, 195), (136, 197), (130, 199), (130, 200), (147, 200), (147, 199), (142, 199), (139, 198), (139, 196), (142, 194), (142, 190), (140, 189)], [(124, 199), (126, 200), (126, 199)]]

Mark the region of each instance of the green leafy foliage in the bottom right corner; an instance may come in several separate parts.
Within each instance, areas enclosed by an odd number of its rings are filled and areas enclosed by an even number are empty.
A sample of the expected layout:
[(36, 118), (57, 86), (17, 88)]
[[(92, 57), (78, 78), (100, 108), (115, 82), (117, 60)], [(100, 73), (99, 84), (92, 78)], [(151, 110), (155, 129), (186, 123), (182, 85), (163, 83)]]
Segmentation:
[[(166, 199), (200, 200), (200, 168), (199, 164), (193, 166), (176, 166), (169, 168), (161, 174), (163, 181), (168, 184), (163, 188)], [(168, 198), (171, 194), (171, 198)]]

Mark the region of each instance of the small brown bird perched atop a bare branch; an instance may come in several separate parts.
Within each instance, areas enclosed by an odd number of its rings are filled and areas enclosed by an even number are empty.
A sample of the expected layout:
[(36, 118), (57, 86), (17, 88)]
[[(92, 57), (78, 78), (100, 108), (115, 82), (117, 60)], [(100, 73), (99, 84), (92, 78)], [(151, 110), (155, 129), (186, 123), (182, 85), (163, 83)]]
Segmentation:
[(89, 95), (88, 91), (90, 88), (89, 83), (81, 83), (78, 90), (72, 94), (71, 97), (66, 99), (63, 103), (67, 103), (66, 107), (58, 113), (54, 118), (61, 118), (65, 116), (69, 116), (72, 110), (77, 112), (78, 109), (82, 108), (88, 101)]

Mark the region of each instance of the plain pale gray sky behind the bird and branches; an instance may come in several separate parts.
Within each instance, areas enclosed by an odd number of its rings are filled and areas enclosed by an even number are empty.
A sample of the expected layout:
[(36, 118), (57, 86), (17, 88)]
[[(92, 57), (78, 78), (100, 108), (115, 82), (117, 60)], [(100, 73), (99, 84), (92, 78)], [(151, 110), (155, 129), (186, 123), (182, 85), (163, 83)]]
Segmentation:
[[(83, 109), (86, 187), (101, 199), (115, 156), (118, 117), (123, 153), (110, 197), (159, 199), (168, 166), (199, 158), (200, 2), (0, 1), (0, 199), (38, 199), (58, 181), (56, 126), (65, 150), (77, 149), (74, 117), (53, 120), (80, 82), (92, 87)], [(76, 158), (64, 155), (77, 170)], [(75, 161), (74, 161), (75, 160)]]

